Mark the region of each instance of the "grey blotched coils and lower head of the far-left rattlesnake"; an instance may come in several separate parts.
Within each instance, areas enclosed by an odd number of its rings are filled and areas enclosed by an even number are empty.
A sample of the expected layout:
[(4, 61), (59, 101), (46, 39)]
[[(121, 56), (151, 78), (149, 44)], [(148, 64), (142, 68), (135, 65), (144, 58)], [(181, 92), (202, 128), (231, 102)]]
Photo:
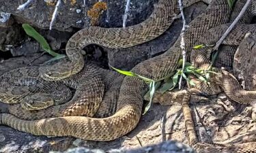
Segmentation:
[(22, 67), (8, 71), (1, 75), (0, 80), (0, 101), (21, 103), (24, 109), (45, 109), (51, 105), (66, 103), (72, 97), (71, 90), (64, 84), (47, 84), (42, 80), (38, 67)]

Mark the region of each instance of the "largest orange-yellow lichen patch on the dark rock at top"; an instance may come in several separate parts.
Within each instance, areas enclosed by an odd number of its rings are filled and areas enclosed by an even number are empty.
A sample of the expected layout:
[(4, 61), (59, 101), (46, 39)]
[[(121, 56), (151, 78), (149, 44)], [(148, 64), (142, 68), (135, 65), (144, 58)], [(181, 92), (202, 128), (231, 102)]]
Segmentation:
[(106, 3), (103, 1), (98, 1), (91, 7), (90, 10), (87, 11), (87, 15), (91, 19), (91, 25), (95, 26), (98, 24), (98, 20), (100, 16), (104, 11), (106, 11), (106, 9), (107, 9)]

